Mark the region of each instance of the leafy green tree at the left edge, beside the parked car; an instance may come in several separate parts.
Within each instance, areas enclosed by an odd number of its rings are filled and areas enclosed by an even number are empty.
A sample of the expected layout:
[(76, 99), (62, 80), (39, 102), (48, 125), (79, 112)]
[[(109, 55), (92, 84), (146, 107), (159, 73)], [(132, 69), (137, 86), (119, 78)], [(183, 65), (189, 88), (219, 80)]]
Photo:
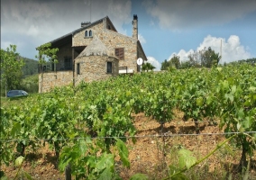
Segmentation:
[(19, 57), (16, 45), (10, 44), (6, 50), (1, 49), (1, 84), (5, 86), (5, 96), (7, 90), (18, 88), (21, 84), (24, 63)]

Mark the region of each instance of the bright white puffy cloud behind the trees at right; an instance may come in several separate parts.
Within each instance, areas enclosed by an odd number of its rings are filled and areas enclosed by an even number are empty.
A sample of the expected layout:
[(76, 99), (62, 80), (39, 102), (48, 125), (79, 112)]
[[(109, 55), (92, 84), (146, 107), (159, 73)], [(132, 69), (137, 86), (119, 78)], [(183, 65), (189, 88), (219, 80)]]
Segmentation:
[[(221, 53), (222, 44), (222, 53)], [(216, 38), (211, 35), (206, 36), (202, 43), (196, 50), (211, 47), (216, 53), (222, 54), (221, 63), (232, 62), (236, 60), (251, 58), (250, 52), (248, 52), (241, 44), (240, 39), (236, 35), (231, 35), (228, 40), (224, 38)], [(188, 55), (193, 53), (193, 49), (188, 51), (181, 49), (178, 53), (174, 52), (169, 56), (169, 59), (175, 55), (179, 56), (180, 60), (188, 60)]]

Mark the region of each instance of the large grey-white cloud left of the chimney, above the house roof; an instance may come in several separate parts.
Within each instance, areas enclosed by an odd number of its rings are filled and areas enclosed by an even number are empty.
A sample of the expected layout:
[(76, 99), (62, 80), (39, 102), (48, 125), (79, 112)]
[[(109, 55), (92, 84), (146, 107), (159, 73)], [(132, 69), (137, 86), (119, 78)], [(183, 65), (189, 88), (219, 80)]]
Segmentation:
[(33, 58), (35, 47), (77, 30), (81, 22), (95, 22), (108, 15), (116, 30), (126, 34), (123, 24), (133, 21), (131, 0), (94, 0), (91, 15), (89, 10), (85, 0), (1, 1), (1, 46), (2, 41), (23, 41), (28, 45), (26, 52), (20, 53)]

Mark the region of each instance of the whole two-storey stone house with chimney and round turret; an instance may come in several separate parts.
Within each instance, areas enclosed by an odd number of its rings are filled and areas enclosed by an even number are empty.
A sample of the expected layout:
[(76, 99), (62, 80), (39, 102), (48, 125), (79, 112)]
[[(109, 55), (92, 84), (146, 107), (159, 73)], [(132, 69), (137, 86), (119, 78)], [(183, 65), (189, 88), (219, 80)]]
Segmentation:
[(110, 76), (141, 71), (137, 59), (147, 60), (138, 40), (138, 17), (133, 15), (133, 37), (116, 31), (109, 17), (81, 27), (56, 40), (58, 63), (43, 65), (39, 75), (39, 92), (54, 86), (78, 85), (81, 81), (104, 80)]

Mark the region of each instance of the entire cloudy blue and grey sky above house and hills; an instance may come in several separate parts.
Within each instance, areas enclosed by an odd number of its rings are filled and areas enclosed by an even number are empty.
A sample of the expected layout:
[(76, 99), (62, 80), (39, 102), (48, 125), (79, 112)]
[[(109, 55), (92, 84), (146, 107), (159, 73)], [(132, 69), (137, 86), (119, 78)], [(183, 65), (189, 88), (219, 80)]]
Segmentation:
[(132, 36), (133, 14), (157, 68), (174, 54), (186, 60), (205, 47), (220, 53), (221, 41), (222, 62), (256, 58), (256, 0), (1, 0), (1, 49), (15, 44), (21, 56), (34, 58), (39, 45), (106, 15)]

